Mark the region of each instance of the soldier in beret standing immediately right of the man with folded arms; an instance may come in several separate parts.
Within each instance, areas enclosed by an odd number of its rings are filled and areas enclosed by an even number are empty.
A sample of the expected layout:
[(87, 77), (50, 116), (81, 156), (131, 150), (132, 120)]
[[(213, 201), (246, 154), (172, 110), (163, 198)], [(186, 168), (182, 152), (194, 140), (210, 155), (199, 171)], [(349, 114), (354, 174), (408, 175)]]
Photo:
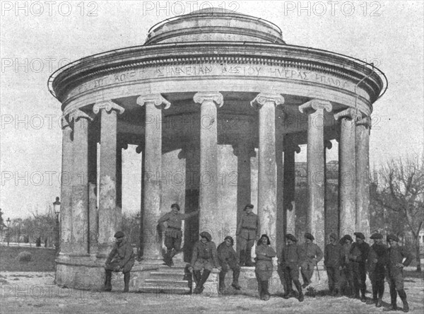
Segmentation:
[(304, 300), (302, 286), (299, 281), (299, 266), (305, 259), (304, 252), (300, 245), (297, 244), (298, 239), (292, 234), (288, 233), (285, 235), (287, 245), (281, 250), (281, 257), (278, 260), (278, 264), (281, 265), (281, 269), (284, 274), (284, 295), (283, 298), (295, 297), (295, 293), (292, 288), (292, 282), (298, 289), (298, 300), (302, 302)]

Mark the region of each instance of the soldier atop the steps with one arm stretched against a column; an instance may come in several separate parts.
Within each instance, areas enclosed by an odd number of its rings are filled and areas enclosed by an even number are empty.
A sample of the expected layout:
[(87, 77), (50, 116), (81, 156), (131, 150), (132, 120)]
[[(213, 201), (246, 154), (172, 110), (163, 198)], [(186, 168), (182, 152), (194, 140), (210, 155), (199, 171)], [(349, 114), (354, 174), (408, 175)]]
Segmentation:
[(196, 214), (199, 214), (199, 209), (190, 214), (179, 214), (179, 205), (172, 204), (171, 211), (158, 220), (158, 223), (164, 223), (165, 221), (167, 223), (167, 228), (165, 230), (166, 253), (163, 260), (169, 267), (174, 266), (172, 257), (181, 252), (182, 220), (188, 219)]

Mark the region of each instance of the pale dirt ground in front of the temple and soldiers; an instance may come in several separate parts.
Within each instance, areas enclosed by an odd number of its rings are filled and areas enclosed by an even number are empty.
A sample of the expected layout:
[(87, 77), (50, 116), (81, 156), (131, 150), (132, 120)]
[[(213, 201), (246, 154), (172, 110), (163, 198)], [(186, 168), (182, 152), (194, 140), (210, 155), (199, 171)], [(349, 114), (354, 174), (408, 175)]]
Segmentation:
[[(405, 285), (410, 313), (422, 314), (423, 277), (408, 277)], [(62, 289), (54, 285), (54, 272), (0, 272), (0, 313), (382, 313), (382, 308), (346, 297), (307, 296), (299, 303), (277, 295), (261, 301), (254, 289), (219, 298), (107, 293)], [(385, 302), (390, 300), (388, 290), (386, 284)]]

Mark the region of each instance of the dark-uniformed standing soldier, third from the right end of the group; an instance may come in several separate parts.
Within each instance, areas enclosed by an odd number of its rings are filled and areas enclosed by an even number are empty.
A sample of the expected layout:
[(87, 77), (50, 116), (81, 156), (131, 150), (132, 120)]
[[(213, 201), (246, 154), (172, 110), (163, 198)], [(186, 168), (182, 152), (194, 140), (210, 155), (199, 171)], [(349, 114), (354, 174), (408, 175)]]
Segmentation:
[(363, 233), (355, 232), (353, 234), (356, 238), (355, 243), (352, 244), (352, 248), (349, 252), (349, 260), (352, 262), (353, 287), (355, 289), (354, 298), (360, 298), (360, 301), (366, 302), (367, 298), (365, 297), (365, 293), (367, 291), (367, 286), (365, 285), (365, 280), (367, 279), (367, 271), (365, 268), (365, 262), (368, 258), (370, 245), (365, 242), (365, 236)]

